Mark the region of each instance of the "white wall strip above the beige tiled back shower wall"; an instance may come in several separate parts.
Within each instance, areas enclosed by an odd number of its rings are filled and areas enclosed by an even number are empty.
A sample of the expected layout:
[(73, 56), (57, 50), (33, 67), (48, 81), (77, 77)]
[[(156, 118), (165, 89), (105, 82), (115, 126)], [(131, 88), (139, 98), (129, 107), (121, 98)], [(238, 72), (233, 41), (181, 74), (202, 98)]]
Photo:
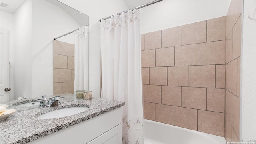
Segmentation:
[[(226, 16), (230, 0), (163, 0), (141, 8), (141, 34)], [(230, 2), (229, 2), (230, 3)]]

